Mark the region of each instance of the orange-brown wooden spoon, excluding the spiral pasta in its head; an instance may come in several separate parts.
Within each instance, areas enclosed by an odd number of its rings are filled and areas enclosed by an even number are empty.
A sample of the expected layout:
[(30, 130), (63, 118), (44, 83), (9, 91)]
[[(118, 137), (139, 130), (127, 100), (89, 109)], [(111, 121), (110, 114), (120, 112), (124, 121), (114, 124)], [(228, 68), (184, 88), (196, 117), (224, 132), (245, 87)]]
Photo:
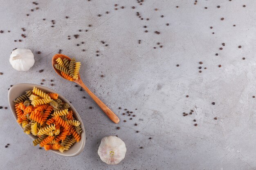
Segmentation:
[[(61, 71), (57, 70), (54, 67), (54, 64), (57, 64), (56, 59), (58, 57), (61, 57), (61, 59), (63, 60), (64, 58), (68, 59), (69, 61), (71, 60), (70, 57), (67, 57), (67, 55), (63, 55), (63, 54), (55, 54), (52, 57), (52, 66), (55, 70), (55, 72), (61, 76), (63, 79), (65, 79), (62, 75), (61, 75)], [(79, 84), (79, 86), (81, 86), (91, 97), (92, 99), (99, 105), (99, 107), (103, 110), (104, 113), (106, 113), (106, 115), (116, 124), (118, 124), (119, 122), (119, 118), (117, 117), (117, 115), (115, 115), (114, 112), (112, 112), (112, 110), (110, 110), (110, 108), (108, 108), (108, 106), (106, 106), (106, 104), (104, 104), (103, 102), (101, 102), (101, 100), (94, 95), (94, 93), (92, 93), (88, 87), (85, 86), (85, 84), (83, 84), (83, 81), (81, 80), (80, 74), (78, 75), (78, 79), (74, 79), (74, 82), (76, 84)]]

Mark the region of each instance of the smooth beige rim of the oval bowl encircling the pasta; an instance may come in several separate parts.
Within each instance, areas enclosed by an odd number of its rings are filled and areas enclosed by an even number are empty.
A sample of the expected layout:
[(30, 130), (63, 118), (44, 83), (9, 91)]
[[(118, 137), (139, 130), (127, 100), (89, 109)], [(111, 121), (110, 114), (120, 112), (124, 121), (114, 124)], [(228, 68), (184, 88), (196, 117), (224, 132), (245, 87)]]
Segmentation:
[[(82, 119), (81, 119), (81, 117), (80, 117), (80, 115), (79, 115), (79, 113), (76, 111), (76, 109), (74, 108), (74, 106), (65, 98), (65, 97), (63, 97), (63, 95), (61, 95), (60, 93), (58, 93), (58, 92), (56, 92), (56, 91), (54, 91), (54, 90), (52, 90), (51, 88), (48, 88), (48, 87), (46, 87), (46, 86), (41, 86), (41, 85), (38, 85), (38, 84), (31, 84), (31, 83), (20, 83), (20, 84), (16, 84), (16, 85), (13, 85), (10, 89), (9, 89), (9, 91), (8, 91), (8, 102), (9, 102), (9, 106), (10, 106), (10, 108), (11, 108), (11, 112), (12, 112), (12, 114), (13, 114), (13, 117), (15, 118), (15, 120), (16, 120), (16, 122), (17, 122), (17, 116), (16, 116), (16, 111), (15, 111), (15, 108), (13, 107), (15, 104), (13, 104), (13, 100), (15, 100), (17, 97), (19, 97), (19, 96), (16, 96), (16, 98), (15, 99), (13, 99), (13, 98), (11, 98), (11, 94), (13, 93), (13, 90), (14, 89), (16, 89), (16, 88), (18, 88), (19, 86), (28, 86), (28, 89), (27, 90), (29, 90), (29, 86), (31, 86), (32, 88), (35, 86), (36, 88), (39, 88), (39, 89), (46, 89), (46, 92), (47, 93), (57, 93), (58, 94), (58, 98), (60, 98), (63, 102), (65, 102), (65, 103), (67, 103), (67, 104), (69, 104), (70, 105), (70, 108), (72, 109), (72, 111), (73, 111), (73, 113), (74, 113), (74, 115), (75, 115), (75, 117), (76, 118), (78, 118), (78, 120), (81, 122), (81, 124), (80, 124), (80, 126), (81, 126), (81, 128), (83, 129), (83, 132), (82, 132), (82, 134), (81, 134), (81, 143), (82, 143), (82, 145), (79, 147), (79, 149), (76, 151), (76, 152), (74, 152), (74, 153), (72, 153), (72, 154), (67, 154), (67, 153), (65, 153), (65, 152), (63, 152), (63, 153), (61, 153), (59, 150), (50, 150), (50, 151), (52, 151), (52, 152), (54, 152), (54, 153), (56, 153), (56, 154), (58, 154), (58, 155), (62, 155), (62, 156), (65, 156), (65, 157), (74, 157), (74, 156), (76, 156), (76, 155), (79, 155), (82, 151), (83, 151), (83, 149), (85, 148), (85, 128), (84, 128), (84, 125), (83, 125), (83, 121), (82, 121)], [(45, 90), (43, 90), (43, 91), (45, 91)], [(18, 123), (17, 123), (18, 124)], [(18, 124), (19, 126), (20, 126), (20, 128), (22, 128), (22, 125), (21, 124)], [(22, 128), (22, 130), (23, 130), (23, 128)], [(26, 135), (28, 135), (31, 139), (36, 139), (36, 136), (34, 136), (34, 135), (31, 135), (31, 134), (26, 134)], [(70, 150), (72, 149), (72, 147), (70, 148)]]

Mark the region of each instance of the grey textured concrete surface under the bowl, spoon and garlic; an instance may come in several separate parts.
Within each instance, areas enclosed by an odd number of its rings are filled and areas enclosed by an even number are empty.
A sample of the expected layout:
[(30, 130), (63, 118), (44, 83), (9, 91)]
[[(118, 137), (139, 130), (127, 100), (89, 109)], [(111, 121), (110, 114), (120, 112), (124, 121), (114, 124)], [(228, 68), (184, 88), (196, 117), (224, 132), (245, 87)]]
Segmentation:
[[(79, 111), (87, 140), (76, 157), (39, 150), (18, 127), (10, 109), (0, 109), (0, 169), (256, 169), (254, 0), (198, 0), (196, 5), (193, 0), (145, 0), (143, 5), (136, 0), (36, 2), (38, 10), (28, 0), (0, 1), (0, 30), (4, 31), (0, 33), (0, 106), (9, 107), (11, 84), (40, 84), (46, 79), (45, 86), (64, 95)], [(55, 21), (53, 28), (51, 20)], [(27, 37), (21, 38), (21, 33)], [(14, 42), (19, 39), (22, 42)], [(19, 47), (31, 49), (35, 55), (35, 65), (27, 72), (15, 71), (9, 64), (12, 49)], [(81, 78), (117, 113), (118, 125), (84, 91), (56, 75), (51, 59), (59, 49), (81, 61)], [(199, 66), (207, 69), (199, 73)], [(44, 71), (39, 73), (40, 69)], [(136, 117), (130, 120), (122, 115), (124, 108)], [(191, 109), (193, 115), (182, 115)], [(118, 135), (126, 143), (126, 158), (116, 166), (106, 165), (97, 154), (102, 137), (108, 135)], [(10, 146), (4, 148), (7, 143)]]

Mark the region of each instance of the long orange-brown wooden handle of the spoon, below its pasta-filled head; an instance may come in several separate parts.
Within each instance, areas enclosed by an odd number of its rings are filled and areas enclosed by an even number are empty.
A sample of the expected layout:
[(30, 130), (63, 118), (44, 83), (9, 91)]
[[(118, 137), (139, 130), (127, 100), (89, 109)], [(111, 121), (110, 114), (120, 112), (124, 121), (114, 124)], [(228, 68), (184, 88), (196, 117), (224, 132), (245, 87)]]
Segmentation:
[(85, 86), (85, 84), (83, 84), (81, 79), (78, 79), (75, 81), (77, 84), (79, 84), (91, 97), (92, 99), (99, 105), (99, 107), (103, 110), (104, 113), (106, 113), (106, 115), (116, 124), (118, 124), (119, 122), (119, 118), (117, 117), (117, 115), (115, 115), (114, 112), (112, 112), (112, 110), (110, 110), (110, 108), (108, 108), (108, 106), (106, 106), (106, 104), (104, 104), (96, 95), (94, 95), (94, 93), (92, 93), (89, 88), (87, 86)]

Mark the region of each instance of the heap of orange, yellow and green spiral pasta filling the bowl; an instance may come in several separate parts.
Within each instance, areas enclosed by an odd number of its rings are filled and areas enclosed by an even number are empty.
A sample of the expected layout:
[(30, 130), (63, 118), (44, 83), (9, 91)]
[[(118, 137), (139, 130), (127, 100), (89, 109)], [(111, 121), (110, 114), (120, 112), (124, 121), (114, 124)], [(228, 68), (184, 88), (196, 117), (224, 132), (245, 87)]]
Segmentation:
[[(63, 64), (69, 68), (68, 60), (63, 60)], [(39, 144), (45, 150), (64, 152), (81, 140), (81, 123), (57, 93), (45, 93), (34, 87), (13, 102), (17, 122), (24, 132), (38, 137), (33, 141), (34, 146)]]

